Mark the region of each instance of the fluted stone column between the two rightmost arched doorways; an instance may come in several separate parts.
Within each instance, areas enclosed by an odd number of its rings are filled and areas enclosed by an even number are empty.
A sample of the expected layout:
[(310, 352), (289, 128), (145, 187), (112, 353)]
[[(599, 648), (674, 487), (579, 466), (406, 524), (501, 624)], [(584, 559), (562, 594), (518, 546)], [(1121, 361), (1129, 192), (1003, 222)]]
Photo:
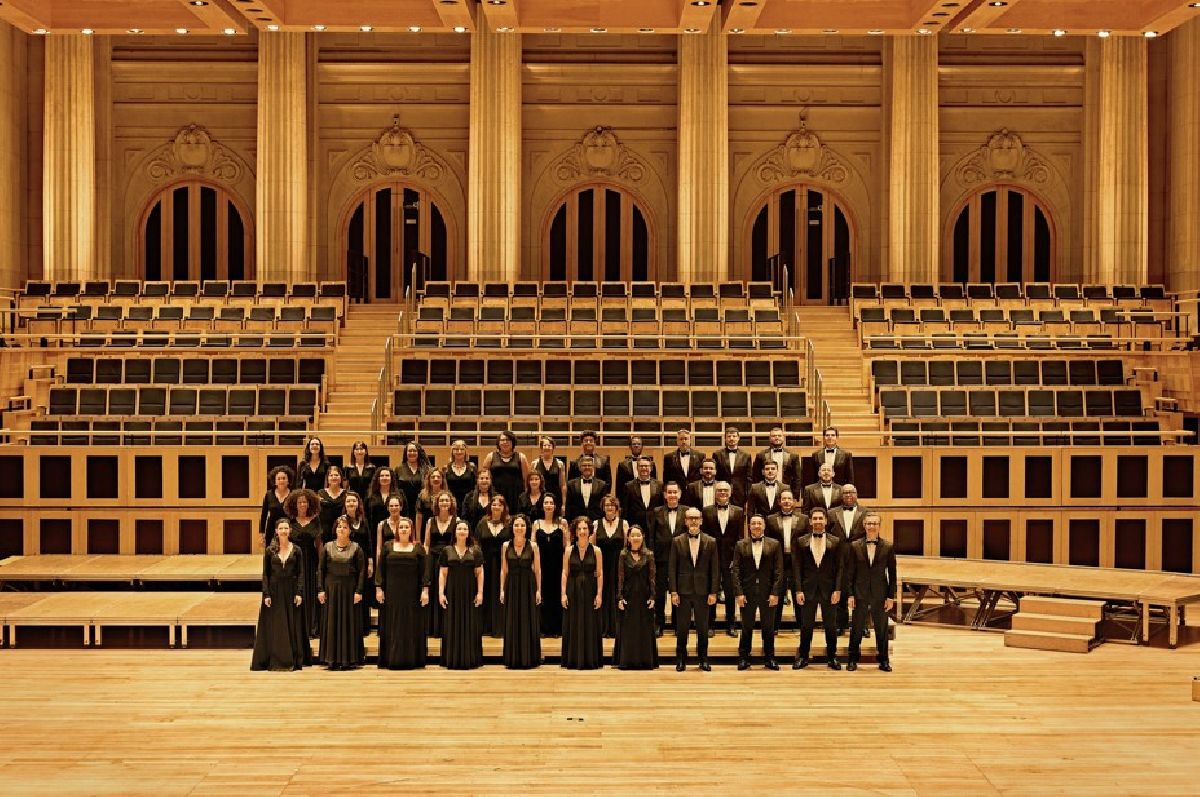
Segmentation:
[(937, 37), (895, 36), (886, 47), (888, 259), (896, 282), (938, 280)]

